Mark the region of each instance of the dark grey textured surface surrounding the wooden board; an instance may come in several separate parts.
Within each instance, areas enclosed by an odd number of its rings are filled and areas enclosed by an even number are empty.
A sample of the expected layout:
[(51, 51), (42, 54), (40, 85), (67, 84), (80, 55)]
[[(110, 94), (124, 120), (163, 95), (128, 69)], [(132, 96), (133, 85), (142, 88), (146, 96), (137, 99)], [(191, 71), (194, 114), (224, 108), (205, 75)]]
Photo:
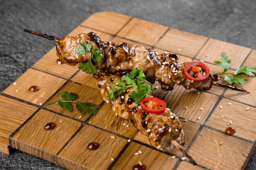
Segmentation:
[[(63, 37), (91, 14), (114, 11), (256, 49), (255, 0), (0, 0), (0, 92), (55, 43), (23, 28)], [(2, 170), (63, 170), (15, 150), (0, 153)], [(256, 170), (254, 151), (246, 170)]]

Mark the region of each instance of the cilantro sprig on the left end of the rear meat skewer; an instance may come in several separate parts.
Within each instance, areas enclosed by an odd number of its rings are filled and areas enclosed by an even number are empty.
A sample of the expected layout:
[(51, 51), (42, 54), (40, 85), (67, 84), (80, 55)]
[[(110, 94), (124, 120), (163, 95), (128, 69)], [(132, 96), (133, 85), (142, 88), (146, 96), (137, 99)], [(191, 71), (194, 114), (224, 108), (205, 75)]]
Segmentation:
[(78, 68), (80, 68), (82, 71), (88, 74), (96, 74), (97, 73), (97, 67), (92, 64), (92, 60), (97, 63), (103, 62), (102, 57), (102, 51), (99, 48), (93, 48), (90, 43), (83, 42), (82, 44), (78, 44), (76, 46), (76, 53), (79, 55), (84, 55), (86, 53), (90, 52), (90, 57), (88, 62), (85, 63), (78, 63)]

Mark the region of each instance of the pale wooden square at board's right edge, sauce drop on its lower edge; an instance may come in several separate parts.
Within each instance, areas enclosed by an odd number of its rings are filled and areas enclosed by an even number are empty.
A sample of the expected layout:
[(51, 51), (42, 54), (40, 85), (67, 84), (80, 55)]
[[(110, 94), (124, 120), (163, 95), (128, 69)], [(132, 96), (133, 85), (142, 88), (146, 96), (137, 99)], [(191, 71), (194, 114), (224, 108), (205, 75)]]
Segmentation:
[[(232, 105), (228, 103), (232, 103)], [(220, 106), (223, 108), (220, 108)], [(236, 130), (235, 136), (255, 142), (256, 108), (249, 107), (249, 110), (246, 110), (247, 107), (249, 106), (223, 98), (207, 121), (207, 125), (223, 132), (227, 127), (231, 126)], [(221, 116), (225, 117), (221, 118)], [(228, 125), (229, 121), (232, 121), (231, 125)]]

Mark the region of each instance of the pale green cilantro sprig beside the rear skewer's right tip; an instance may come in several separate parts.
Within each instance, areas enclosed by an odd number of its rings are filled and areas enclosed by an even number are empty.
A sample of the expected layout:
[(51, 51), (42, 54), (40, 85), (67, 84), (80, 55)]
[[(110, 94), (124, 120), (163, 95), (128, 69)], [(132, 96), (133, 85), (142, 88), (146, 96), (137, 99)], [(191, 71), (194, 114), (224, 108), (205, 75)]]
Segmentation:
[(245, 73), (249, 76), (255, 76), (254, 74), (256, 74), (256, 67), (247, 67), (247, 66), (241, 66), (241, 67), (237, 67), (236, 71), (234, 71), (234, 73), (227, 73), (227, 70), (229, 69), (230, 65), (231, 65), (231, 60), (228, 60), (228, 56), (226, 55), (225, 52), (221, 53), (221, 62), (220, 61), (214, 61), (214, 63), (216, 64), (216, 66), (219, 66), (221, 68), (224, 69), (223, 72), (221, 73), (217, 73), (218, 75), (225, 75), (224, 80), (226, 82), (228, 82), (229, 84), (246, 84), (246, 80), (242, 77), (242, 76), (236, 76), (236, 77), (232, 77), (229, 75), (238, 75), (241, 73)]

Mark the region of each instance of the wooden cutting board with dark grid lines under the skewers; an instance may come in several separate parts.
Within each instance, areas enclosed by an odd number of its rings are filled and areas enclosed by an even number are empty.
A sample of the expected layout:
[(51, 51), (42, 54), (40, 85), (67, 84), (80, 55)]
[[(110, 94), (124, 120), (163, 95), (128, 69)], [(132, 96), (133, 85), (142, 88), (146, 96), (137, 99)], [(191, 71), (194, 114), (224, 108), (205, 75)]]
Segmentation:
[[(223, 51), (232, 61), (231, 71), (237, 66), (256, 66), (255, 50), (117, 13), (95, 13), (69, 35), (90, 31), (104, 41), (176, 53), (183, 62), (200, 60), (211, 73), (221, 71), (213, 61), (220, 60)], [(59, 65), (56, 59), (54, 47), (0, 95), (0, 152), (9, 155), (9, 147), (16, 148), (70, 170), (130, 170), (139, 161), (147, 170), (245, 168), (256, 142), (256, 78), (243, 75), (247, 84), (239, 86), (249, 94), (217, 87), (208, 92), (187, 91), (177, 86), (164, 92), (154, 85), (154, 95), (164, 99), (182, 121), (184, 148), (198, 163), (193, 166), (181, 159), (183, 155), (177, 149), (160, 152), (151, 147), (145, 136), (129, 121), (115, 116), (111, 106), (103, 102), (91, 75), (77, 66)], [(28, 91), (33, 85), (40, 90)], [(81, 117), (77, 111), (45, 105), (57, 101), (63, 91), (79, 94), (79, 102), (97, 104), (99, 112)], [(236, 130), (231, 136), (224, 132), (229, 121)], [(44, 130), (48, 122), (54, 122), (56, 128)], [(99, 149), (88, 150), (90, 142), (99, 143)], [(139, 150), (142, 153), (135, 155)]]

